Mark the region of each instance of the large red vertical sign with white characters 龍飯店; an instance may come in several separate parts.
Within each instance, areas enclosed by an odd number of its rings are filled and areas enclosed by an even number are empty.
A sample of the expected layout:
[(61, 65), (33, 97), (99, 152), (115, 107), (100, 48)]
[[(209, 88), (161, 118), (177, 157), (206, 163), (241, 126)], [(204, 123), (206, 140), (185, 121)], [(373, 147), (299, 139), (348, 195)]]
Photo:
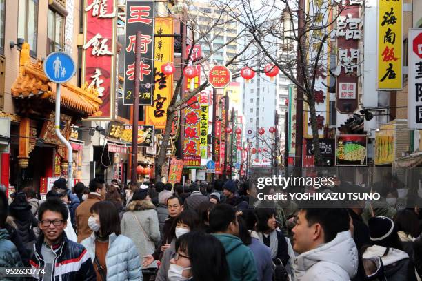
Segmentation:
[(99, 111), (91, 116), (94, 120), (110, 120), (114, 116), (116, 17), (115, 0), (85, 1), (82, 85), (96, 88), (103, 101)]

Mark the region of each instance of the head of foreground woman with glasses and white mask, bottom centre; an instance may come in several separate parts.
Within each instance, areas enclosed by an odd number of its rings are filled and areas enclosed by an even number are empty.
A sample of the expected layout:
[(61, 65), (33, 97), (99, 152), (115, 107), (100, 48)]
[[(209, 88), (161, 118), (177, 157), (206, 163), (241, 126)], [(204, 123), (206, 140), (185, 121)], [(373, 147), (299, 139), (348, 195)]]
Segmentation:
[(192, 231), (176, 242), (169, 281), (228, 281), (228, 262), (221, 242), (210, 234)]

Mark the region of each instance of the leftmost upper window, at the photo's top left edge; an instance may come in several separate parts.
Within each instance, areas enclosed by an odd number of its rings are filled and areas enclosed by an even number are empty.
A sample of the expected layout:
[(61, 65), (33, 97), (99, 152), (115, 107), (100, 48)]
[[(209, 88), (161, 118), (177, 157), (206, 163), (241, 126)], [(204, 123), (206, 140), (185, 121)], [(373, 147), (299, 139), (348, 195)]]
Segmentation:
[(30, 44), (30, 54), (37, 56), (38, 0), (19, 0), (18, 38)]

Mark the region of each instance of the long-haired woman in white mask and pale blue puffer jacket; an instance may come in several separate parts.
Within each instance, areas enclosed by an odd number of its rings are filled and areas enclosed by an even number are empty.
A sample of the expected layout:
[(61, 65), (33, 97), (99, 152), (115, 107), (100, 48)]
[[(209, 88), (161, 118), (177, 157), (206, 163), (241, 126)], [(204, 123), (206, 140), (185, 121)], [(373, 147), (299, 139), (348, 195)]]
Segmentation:
[(119, 212), (112, 202), (101, 201), (92, 205), (88, 225), (91, 236), (81, 242), (94, 261), (99, 281), (140, 281), (141, 261), (130, 238), (121, 235)]

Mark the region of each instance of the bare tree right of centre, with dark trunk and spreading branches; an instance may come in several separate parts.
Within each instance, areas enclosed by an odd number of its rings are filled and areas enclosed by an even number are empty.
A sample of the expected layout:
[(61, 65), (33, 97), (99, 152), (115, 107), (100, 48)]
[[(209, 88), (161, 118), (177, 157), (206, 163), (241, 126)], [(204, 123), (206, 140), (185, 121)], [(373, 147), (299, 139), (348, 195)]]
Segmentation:
[[(242, 11), (241, 16), (234, 11), (230, 15), (248, 29), (266, 61), (278, 67), (303, 92), (303, 102), (310, 111), (315, 165), (321, 165), (321, 117), (316, 110), (316, 98), (321, 96), (316, 93), (328, 88), (321, 81), (331, 74), (328, 62), (334, 45), (330, 38), (345, 6), (338, 3), (341, 0), (312, 0), (309, 8), (305, 8), (304, 0), (263, 1), (261, 5), (251, 0), (215, 0), (217, 6), (229, 2)], [(268, 38), (277, 40), (274, 43)]]

